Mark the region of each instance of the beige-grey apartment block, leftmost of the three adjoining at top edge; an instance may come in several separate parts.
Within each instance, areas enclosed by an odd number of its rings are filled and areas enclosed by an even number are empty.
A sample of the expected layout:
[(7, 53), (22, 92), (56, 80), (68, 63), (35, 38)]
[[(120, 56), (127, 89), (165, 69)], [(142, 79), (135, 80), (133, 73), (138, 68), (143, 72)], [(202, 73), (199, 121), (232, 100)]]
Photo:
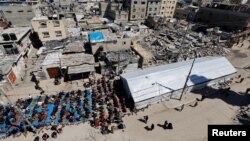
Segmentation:
[(129, 3), (129, 21), (144, 22), (146, 18), (147, 0), (130, 0)]

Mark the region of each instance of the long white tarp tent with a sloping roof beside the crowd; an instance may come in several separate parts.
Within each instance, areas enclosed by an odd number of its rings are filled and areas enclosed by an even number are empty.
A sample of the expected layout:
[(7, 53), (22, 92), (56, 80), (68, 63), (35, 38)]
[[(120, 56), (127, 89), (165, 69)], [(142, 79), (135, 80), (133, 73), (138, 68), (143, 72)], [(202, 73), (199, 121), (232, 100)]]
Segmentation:
[[(121, 75), (127, 96), (136, 108), (156, 103), (173, 95), (180, 95), (193, 60), (147, 68)], [(225, 57), (196, 59), (188, 78), (187, 88), (212, 85), (229, 79), (236, 69)]]

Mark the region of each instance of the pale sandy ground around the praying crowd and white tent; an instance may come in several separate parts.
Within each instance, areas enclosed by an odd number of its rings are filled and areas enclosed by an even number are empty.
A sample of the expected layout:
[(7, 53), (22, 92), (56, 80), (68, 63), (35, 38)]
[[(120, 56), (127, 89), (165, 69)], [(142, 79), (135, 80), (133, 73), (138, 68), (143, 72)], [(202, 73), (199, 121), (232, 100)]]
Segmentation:
[[(249, 104), (249, 95), (240, 95), (245, 92), (246, 88), (250, 87), (250, 72), (241, 69), (250, 62), (250, 50), (247, 49), (249, 43), (244, 43), (243, 47), (234, 47), (233, 51), (228, 55), (231, 63), (238, 69), (238, 74), (244, 77), (242, 83), (233, 83), (231, 86), (232, 94), (229, 97), (215, 95), (206, 98), (199, 102), (197, 107), (185, 106), (184, 110), (179, 112), (174, 109), (169, 109), (165, 106), (165, 102), (153, 105), (144, 112), (139, 112), (137, 115), (126, 116), (124, 122), (126, 129), (123, 131), (116, 131), (114, 134), (101, 135), (98, 129), (94, 129), (88, 123), (80, 124), (78, 126), (72, 125), (63, 128), (63, 133), (57, 139), (49, 139), (54, 141), (206, 141), (207, 140), (207, 125), (208, 124), (236, 124), (234, 121), (236, 111), (243, 101)], [(237, 81), (234, 79), (233, 82)], [(71, 89), (72, 86), (63, 84), (58, 87), (49, 88), (49, 91), (56, 91), (62, 89)], [(45, 85), (42, 84), (42, 85)], [(45, 86), (46, 87), (46, 86)], [(15, 89), (10, 92), (10, 98), (15, 99), (19, 96), (18, 93), (27, 93), (28, 87)], [(32, 90), (33, 91), (33, 90)], [(189, 94), (199, 95), (199, 94)], [(248, 101), (246, 101), (248, 100)], [(148, 124), (139, 121), (144, 115), (149, 116)], [(163, 130), (161, 127), (155, 126), (153, 131), (147, 131), (145, 126), (151, 123), (163, 124), (165, 120), (173, 123), (173, 130)], [(50, 133), (49, 130), (44, 130)], [(41, 136), (41, 135), (40, 135)], [(29, 133), (28, 137), (23, 135), (18, 138), (7, 138), (6, 141), (32, 141), (34, 135)]]

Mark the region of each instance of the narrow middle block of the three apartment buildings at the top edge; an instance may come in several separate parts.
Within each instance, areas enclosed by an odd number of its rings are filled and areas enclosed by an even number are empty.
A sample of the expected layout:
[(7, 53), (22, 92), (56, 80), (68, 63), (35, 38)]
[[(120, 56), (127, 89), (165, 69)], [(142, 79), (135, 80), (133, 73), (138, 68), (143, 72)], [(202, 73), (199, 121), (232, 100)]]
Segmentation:
[(161, 8), (161, 0), (148, 0), (146, 16), (159, 15)]

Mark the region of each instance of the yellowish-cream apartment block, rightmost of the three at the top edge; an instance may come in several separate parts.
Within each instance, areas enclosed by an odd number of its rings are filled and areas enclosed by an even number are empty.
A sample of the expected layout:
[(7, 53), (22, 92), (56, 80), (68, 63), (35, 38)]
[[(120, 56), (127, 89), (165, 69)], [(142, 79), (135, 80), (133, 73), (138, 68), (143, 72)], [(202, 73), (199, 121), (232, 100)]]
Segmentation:
[(168, 18), (174, 17), (177, 0), (162, 0), (160, 15)]

